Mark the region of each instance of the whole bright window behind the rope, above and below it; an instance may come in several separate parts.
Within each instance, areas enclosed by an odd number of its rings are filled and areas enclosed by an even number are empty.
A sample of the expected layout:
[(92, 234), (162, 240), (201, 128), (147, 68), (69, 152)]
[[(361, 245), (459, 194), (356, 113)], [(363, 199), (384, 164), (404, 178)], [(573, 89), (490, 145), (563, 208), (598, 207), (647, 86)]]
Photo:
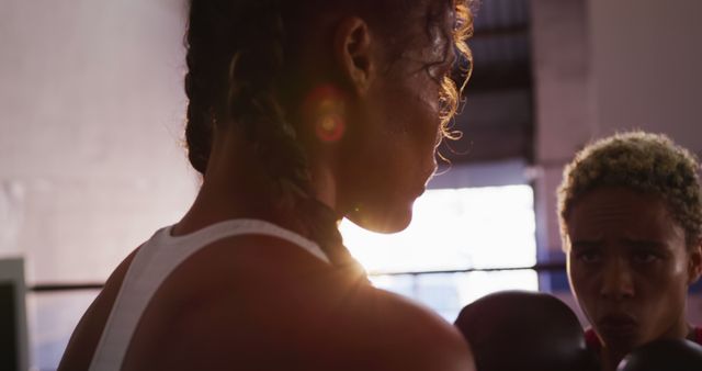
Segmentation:
[(428, 190), (415, 202), (411, 224), (393, 235), (346, 220), (340, 228), (376, 286), (414, 297), (448, 321), (488, 293), (539, 289), (531, 269), (495, 270), (536, 263), (529, 186)]

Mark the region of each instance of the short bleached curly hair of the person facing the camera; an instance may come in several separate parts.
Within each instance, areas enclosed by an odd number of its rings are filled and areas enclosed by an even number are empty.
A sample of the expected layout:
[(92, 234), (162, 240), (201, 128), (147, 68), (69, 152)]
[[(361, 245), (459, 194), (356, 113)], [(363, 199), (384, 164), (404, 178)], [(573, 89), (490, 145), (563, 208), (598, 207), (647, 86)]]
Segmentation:
[(563, 171), (558, 218), (563, 249), (568, 246), (568, 214), (585, 193), (600, 187), (625, 187), (660, 195), (686, 232), (689, 247), (702, 241), (700, 164), (663, 134), (616, 134), (586, 146)]

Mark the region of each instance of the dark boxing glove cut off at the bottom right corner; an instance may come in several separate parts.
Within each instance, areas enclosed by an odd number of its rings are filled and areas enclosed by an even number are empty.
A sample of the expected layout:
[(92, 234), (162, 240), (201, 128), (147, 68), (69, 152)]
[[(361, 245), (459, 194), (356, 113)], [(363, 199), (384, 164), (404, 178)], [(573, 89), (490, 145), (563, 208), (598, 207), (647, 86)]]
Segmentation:
[(684, 339), (656, 340), (634, 349), (616, 371), (701, 371), (702, 347)]

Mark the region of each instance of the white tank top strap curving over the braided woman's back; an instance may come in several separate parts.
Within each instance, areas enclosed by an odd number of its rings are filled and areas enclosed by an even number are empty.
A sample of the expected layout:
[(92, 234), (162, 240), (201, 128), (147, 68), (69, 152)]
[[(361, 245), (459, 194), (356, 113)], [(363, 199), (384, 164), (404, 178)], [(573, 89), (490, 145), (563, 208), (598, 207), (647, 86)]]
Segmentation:
[(225, 221), (184, 236), (171, 236), (171, 228), (169, 226), (156, 232), (132, 260), (102, 330), (90, 371), (121, 369), (132, 335), (156, 290), (188, 257), (219, 239), (237, 235), (274, 236), (329, 262), (317, 244), (264, 221)]

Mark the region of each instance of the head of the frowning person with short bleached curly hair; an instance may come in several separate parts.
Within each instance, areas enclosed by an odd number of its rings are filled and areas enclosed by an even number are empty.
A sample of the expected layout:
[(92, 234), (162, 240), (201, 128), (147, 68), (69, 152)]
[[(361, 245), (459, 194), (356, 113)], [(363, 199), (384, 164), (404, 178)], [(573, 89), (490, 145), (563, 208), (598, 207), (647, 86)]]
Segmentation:
[(618, 134), (575, 156), (558, 196), (568, 278), (602, 370), (654, 340), (702, 344), (687, 318), (688, 289), (702, 274), (694, 155), (661, 134)]

